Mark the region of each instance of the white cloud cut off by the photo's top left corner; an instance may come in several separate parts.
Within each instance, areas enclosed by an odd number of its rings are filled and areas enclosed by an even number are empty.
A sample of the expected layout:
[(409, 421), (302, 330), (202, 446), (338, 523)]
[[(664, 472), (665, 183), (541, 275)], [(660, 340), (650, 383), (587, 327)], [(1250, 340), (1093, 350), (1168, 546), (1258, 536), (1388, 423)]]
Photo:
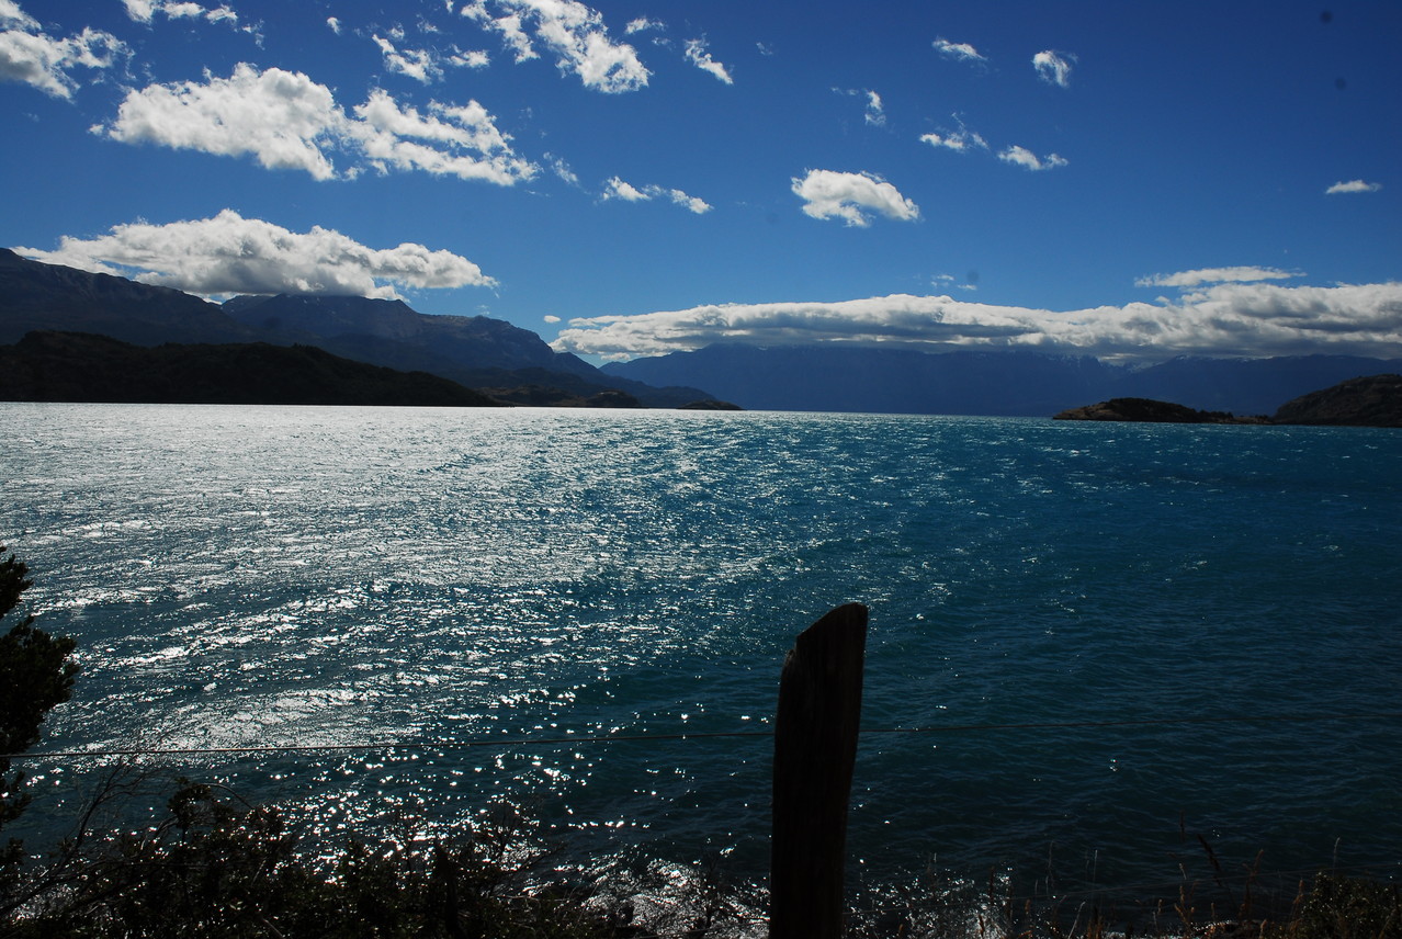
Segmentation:
[(70, 71), (111, 69), (128, 55), (126, 43), (97, 29), (55, 39), (15, 0), (0, 0), (0, 81), (20, 81), (55, 98), (72, 98), (79, 84)]

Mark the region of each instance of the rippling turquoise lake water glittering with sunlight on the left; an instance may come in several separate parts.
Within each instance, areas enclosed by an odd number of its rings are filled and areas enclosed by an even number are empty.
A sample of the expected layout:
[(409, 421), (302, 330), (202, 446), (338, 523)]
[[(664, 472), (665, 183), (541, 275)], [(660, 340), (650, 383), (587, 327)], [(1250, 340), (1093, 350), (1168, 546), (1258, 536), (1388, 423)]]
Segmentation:
[[(571, 739), (764, 732), (862, 601), (868, 729), (1202, 719), (864, 734), (869, 882), (1402, 861), (1402, 722), (1294, 720), (1402, 711), (1398, 432), (6, 404), (0, 439), (83, 666), (42, 747), (387, 744), (157, 761), (314, 831), (512, 804), (763, 879), (768, 739)], [(84, 765), (31, 765), (53, 830)]]

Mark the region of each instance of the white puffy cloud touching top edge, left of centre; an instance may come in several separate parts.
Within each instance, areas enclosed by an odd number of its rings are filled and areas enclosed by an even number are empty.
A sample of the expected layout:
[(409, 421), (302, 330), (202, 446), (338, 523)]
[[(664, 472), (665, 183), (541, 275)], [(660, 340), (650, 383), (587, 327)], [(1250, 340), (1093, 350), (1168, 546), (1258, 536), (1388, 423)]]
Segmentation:
[[(494, 15), (488, 3), (501, 15)], [(579, 76), (586, 88), (637, 91), (652, 74), (632, 46), (608, 38), (603, 15), (578, 0), (478, 0), (461, 14), (501, 34), (516, 62), (538, 57), (538, 42), (554, 53), (561, 71)]]

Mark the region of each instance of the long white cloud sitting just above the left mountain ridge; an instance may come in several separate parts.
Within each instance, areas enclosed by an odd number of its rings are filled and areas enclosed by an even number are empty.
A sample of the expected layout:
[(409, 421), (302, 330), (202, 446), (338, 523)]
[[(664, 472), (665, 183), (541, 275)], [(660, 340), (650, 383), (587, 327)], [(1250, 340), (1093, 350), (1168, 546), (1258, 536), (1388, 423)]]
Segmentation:
[(133, 275), (142, 283), (188, 293), (352, 294), (395, 299), (401, 287), (494, 286), (481, 268), (450, 251), (405, 242), (369, 248), (314, 226), (294, 233), (224, 209), (213, 219), (116, 226), (111, 234), (64, 237), (57, 251), (15, 248), (46, 263)]

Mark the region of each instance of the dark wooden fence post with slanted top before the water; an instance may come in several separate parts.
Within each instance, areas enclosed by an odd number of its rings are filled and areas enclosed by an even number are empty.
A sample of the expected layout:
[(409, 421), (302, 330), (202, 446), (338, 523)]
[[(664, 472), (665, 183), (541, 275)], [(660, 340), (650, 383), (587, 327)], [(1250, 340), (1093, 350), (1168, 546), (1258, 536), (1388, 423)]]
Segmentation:
[(774, 722), (770, 939), (843, 935), (843, 854), (862, 705), (866, 607), (805, 629), (780, 677)]

